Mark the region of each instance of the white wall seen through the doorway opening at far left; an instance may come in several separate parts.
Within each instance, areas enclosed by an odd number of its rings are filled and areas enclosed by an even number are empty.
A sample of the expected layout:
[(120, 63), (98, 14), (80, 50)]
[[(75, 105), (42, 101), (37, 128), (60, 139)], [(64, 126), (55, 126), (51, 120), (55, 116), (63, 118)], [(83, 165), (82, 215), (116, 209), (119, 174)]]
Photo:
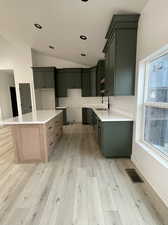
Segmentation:
[(13, 116), (10, 87), (14, 86), (13, 71), (0, 70), (0, 117), (3, 119)]

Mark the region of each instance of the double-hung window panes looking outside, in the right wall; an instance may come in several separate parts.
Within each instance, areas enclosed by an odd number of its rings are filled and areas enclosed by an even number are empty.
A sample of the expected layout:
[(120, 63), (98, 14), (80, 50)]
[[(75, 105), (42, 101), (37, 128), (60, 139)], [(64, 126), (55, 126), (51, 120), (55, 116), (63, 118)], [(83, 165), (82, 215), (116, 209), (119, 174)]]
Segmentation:
[(168, 53), (146, 64), (143, 140), (168, 156)]

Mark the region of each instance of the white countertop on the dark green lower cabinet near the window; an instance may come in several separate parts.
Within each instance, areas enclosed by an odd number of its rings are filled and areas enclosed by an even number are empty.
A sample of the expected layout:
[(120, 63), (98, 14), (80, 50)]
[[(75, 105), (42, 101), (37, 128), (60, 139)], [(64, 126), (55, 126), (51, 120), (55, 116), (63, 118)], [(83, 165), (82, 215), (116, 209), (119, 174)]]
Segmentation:
[(133, 118), (130, 118), (122, 113), (118, 113), (115, 111), (109, 111), (109, 110), (101, 111), (101, 110), (96, 110), (95, 108), (92, 108), (92, 109), (102, 122), (133, 121)]

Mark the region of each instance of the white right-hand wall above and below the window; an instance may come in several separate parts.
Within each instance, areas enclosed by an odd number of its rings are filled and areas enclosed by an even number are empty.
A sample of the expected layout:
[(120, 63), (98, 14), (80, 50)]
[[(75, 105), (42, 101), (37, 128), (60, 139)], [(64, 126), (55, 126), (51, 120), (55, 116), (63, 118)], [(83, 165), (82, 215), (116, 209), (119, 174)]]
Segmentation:
[[(168, 44), (168, 1), (149, 0), (144, 8), (138, 31), (137, 61)], [(138, 77), (137, 77), (138, 80)], [(168, 163), (144, 147), (133, 143), (132, 160), (153, 189), (168, 206)]]

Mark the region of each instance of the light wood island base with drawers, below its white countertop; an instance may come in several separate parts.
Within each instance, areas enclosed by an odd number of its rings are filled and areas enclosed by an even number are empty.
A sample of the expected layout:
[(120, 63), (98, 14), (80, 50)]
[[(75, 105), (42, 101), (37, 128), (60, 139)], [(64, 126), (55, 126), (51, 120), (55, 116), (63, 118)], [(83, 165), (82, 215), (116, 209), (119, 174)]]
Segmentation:
[(17, 163), (48, 162), (63, 133), (63, 113), (46, 123), (11, 124)]

